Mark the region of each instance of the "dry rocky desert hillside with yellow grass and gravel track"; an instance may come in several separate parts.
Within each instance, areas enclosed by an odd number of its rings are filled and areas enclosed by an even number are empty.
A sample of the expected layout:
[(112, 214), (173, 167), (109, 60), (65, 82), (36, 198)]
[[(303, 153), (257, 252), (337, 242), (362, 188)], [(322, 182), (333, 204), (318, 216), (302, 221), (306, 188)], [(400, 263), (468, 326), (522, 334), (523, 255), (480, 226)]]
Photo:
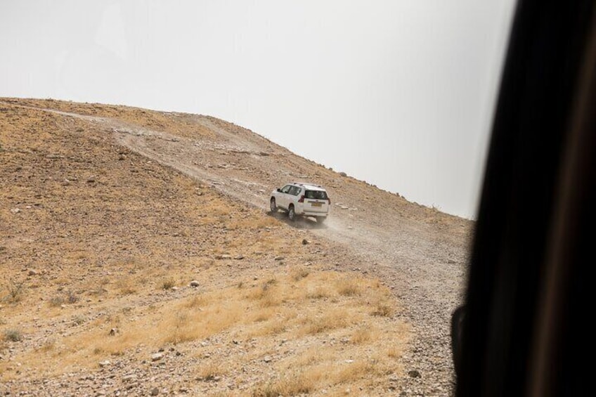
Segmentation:
[[(287, 181), (328, 223), (268, 214)], [(0, 392), (448, 395), (469, 221), (220, 119), (57, 100), (0, 98), (0, 187)]]

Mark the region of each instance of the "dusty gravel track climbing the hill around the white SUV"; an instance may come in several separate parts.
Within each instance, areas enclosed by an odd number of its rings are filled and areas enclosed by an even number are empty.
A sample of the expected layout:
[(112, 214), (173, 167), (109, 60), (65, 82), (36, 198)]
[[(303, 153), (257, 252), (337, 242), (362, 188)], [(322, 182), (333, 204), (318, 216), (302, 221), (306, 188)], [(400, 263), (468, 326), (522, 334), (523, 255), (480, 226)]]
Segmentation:
[(360, 270), (377, 275), (394, 290), (415, 333), (403, 358), (406, 372), (410, 372), (407, 394), (446, 396), (451, 392), (449, 318), (461, 301), (465, 282), (467, 221), (429, 222), (434, 218), (425, 217), (427, 209), (410, 214), (402, 207), (386, 206), (384, 200), (393, 195), (335, 172), (321, 171), (318, 164), (257, 134), (230, 131), (209, 117), (197, 116), (195, 122), (214, 135), (197, 139), (112, 118), (44, 110), (96, 124), (117, 143), (148, 160), (264, 210), (271, 189), (286, 181), (324, 184), (335, 204), (328, 223), (314, 227), (310, 221), (297, 221), (292, 226), (310, 229), (309, 233), (339, 242), (355, 256), (365, 258), (368, 267)]

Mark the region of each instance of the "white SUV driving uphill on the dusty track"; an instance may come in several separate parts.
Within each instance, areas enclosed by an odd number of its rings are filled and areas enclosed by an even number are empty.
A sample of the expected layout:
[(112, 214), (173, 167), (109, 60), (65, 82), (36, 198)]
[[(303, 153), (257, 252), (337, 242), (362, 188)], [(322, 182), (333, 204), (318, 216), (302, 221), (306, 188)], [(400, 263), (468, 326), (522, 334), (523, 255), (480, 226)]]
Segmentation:
[(296, 215), (314, 216), (317, 223), (323, 223), (329, 214), (331, 200), (327, 191), (307, 183), (288, 183), (283, 188), (271, 192), (271, 212), (278, 209), (287, 211), (290, 221)]

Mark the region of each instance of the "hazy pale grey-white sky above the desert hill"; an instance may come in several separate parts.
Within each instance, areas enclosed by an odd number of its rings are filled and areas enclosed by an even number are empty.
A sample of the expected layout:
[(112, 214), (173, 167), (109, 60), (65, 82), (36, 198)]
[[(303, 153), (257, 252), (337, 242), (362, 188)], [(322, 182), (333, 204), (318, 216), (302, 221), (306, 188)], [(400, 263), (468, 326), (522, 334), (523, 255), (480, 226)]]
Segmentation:
[(513, 7), (1, 1), (0, 96), (220, 117), (472, 217)]

